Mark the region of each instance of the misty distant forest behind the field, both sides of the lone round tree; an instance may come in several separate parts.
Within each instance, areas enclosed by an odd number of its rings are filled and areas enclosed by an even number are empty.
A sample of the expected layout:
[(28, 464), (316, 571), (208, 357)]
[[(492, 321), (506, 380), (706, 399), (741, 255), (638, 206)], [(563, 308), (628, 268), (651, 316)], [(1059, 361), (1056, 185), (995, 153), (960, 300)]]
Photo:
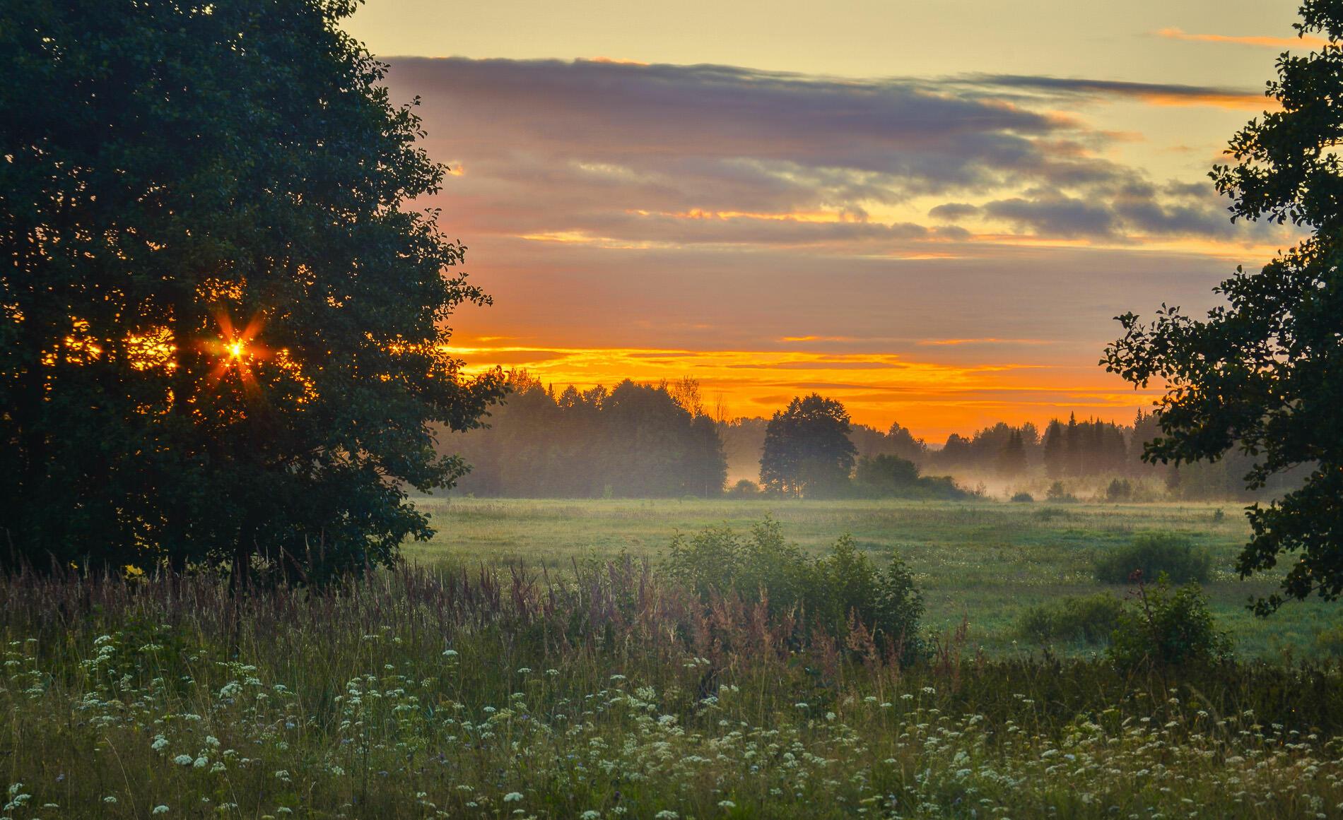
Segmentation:
[[(556, 391), (518, 370), (509, 374), (509, 381), (513, 391), (505, 404), (493, 409), (489, 427), (442, 438), (445, 450), (471, 464), (455, 494), (708, 498), (760, 491), (760, 458), (771, 420), (710, 416), (693, 378), (661, 384), (624, 380), (611, 389), (579, 391), (571, 385)], [(1109, 497), (1123, 501), (1129, 497), (1127, 479), (1144, 478), (1168, 498), (1256, 495), (1244, 487), (1252, 459), (1240, 451), (1215, 463), (1175, 467), (1143, 462), (1143, 443), (1158, 435), (1156, 415), (1142, 411), (1132, 424), (1070, 416), (1052, 420), (1044, 431), (1031, 423), (1013, 427), (999, 421), (968, 436), (952, 433), (940, 447), (915, 438), (898, 423), (886, 431), (866, 424), (849, 424), (847, 429), (857, 495), (873, 494), (861, 482), (873, 472), (878, 456), (909, 462), (909, 474), (925, 489), (941, 489), (937, 497), (967, 497), (974, 494), (967, 489), (983, 482), (1026, 486), (1045, 480), (1068, 486), (1074, 479), (1091, 484), (1116, 479)], [(889, 458), (880, 462), (890, 463)], [(951, 476), (955, 483), (919, 479), (920, 474)], [(1284, 475), (1265, 491), (1281, 491), (1299, 479)]]

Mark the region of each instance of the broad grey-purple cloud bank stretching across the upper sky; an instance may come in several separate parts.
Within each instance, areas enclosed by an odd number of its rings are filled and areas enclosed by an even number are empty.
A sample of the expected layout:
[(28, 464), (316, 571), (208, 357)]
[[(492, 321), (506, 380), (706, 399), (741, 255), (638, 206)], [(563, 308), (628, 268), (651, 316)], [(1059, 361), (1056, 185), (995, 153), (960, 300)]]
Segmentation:
[[(988, 216), (1042, 236), (1230, 235), (1207, 185), (1158, 188), (1093, 153), (1104, 133), (1003, 94), (1234, 90), (463, 58), (399, 58), (388, 79), (423, 98), (431, 153), (462, 172), (441, 204), (466, 235), (862, 254), (970, 236), (866, 212), (915, 196), (951, 200), (929, 211), (935, 223)], [(991, 201), (955, 201), (971, 196)]]

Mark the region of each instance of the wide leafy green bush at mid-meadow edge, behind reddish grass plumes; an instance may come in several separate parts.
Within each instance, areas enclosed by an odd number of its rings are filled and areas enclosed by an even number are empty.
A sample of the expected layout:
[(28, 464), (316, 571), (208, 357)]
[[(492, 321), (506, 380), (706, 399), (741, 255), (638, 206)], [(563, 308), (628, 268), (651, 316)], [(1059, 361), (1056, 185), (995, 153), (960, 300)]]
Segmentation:
[(665, 573), (704, 600), (735, 595), (745, 601), (768, 600), (774, 616), (798, 609), (799, 636), (821, 629), (835, 637), (861, 627), (873, 644), (912, 662), (924, 652), (919, 635), (923, 596), (898, 556), (878, 570), (849, 535), (822, 558), (806, 556), (783, 540), (772, 518), (740, 538), (728, 525), (706, 527), (692, 538), (678, 534), (663, 565)]

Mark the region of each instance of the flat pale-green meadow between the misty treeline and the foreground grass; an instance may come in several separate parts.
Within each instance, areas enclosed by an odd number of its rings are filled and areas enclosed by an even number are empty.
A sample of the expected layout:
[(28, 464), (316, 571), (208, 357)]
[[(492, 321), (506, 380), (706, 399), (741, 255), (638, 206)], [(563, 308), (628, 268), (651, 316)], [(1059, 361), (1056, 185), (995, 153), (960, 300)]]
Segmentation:
[[(1288, 604), (1269, 619), (1245, 609), (1252, 595), (1265, 595), (1276, 582), (1236, 574), (1249, 526), (1234, 505), (471, 498), (424, 498), (418, 505), (431, 514), (438, 535), (407, 544), (404, 554), (430, 566), (521, 564), (569, 572), (575, 560), (622, 550), (657, 561), (678, 530), (723, 522), (745, 530), (764, 515), (818, 553), (850, 533), (882, 562), (900, 552), (924, 591), (931, 629), (944, 632), (964, 619), (971, 644), (995, 655), (1037, 648), (1014, 643), (1011, 625), (1025, 607), (1099, 589), (1124, 595), (1124, 588), (1092, 578), (1092, 561), (1144, 531), (1180, 533), (1213, 554), (1206, 589), (1241, 655), (1309, 656), (1316, 633), (1343, 621), (1338, 604), (1313, 600)], [(1054, 650), (1086, 654), (1093, 647)]]

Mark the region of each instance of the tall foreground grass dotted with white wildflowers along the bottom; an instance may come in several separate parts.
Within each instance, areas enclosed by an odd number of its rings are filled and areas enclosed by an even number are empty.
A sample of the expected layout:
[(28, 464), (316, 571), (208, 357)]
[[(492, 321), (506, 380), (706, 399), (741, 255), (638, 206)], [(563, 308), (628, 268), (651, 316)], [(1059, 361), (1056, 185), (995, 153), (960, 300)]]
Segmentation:
[(0, 578), (5, 817), (1316, 817), (1343, 675), (901, 668), (630, 560), (322, 595)]

